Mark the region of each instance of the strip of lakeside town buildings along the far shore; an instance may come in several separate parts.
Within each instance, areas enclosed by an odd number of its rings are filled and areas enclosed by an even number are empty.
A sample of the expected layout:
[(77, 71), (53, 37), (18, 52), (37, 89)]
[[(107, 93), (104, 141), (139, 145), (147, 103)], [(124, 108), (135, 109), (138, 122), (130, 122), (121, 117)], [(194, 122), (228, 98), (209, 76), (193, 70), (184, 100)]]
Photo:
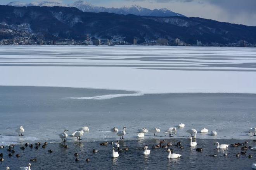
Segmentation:
[[(12, 30), (4, 30), (6, 32), (10, 32)], [(87, 35), (87, 39), (84, 41), (75, 41), (74, 39), (59, 39), (59, 40), (51, 40), (46, 41), (43, 36), (19, 36), (10, 39), (2, 39), (0, 41), (0, 45), (106, 45), (106, 46), (114, 46), (114, 45), (144, 45), (144, 46), (232, 46), (232, 47), (256, 47), (256, 44), (248, 44), (246, 41), (241, 40), (237, 43), (228, 43), (228, 44), (203, 44), (201, 40), (197, 40), (195, 44), (188, 44), (179, 38), (176, 38), (172, 41), (159, 38), (157, 40), (147, 40), (143, 43), (138, 44), (138, 38), (133, 38), (133, 43), (129, 43), (124, 41), (122, 38), (113, 38), (113, 39), (97, 39), (95, 37), (90, 38)]]

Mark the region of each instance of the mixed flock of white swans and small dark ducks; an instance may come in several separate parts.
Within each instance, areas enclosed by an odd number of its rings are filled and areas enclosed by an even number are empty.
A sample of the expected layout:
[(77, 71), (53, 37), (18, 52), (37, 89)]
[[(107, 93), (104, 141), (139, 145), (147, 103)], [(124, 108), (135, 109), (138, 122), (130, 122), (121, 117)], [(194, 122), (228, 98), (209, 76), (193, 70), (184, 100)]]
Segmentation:
[[(184, 128), (185, 127), (185, 124), (183, 123), (180, 123), (177, 128)], [(164, 131), (164, 133), (167, 133), (169, 134), (170, 137), (173, 137), (173, 135), (175, 135), (177, 133), (177, 128), (176, 127), (173, 127), (173, 128), (168, 128), (166, 131)], [(20, 128), (16, 129), (16, 132), (18, 133), (19, 136), (23, 136), (22, 133), (24, 133), (24, 128), (21, 126)], [(75, 131), (74, 133), (72, 133), (71, 135), (68, 135), (67, 134), (67, 129), (65, 129), (63, 131), (63, 133), (59, 134), (59, 138), (62, 139), (62, 142), (65, 143), (66, 142), (66, 138), (67, 137), (76, 137), (78, 141), (82, 140), (81, 139), (81, 136), (83, 136), (83, 134), (85, 132), (89, 132), (89, 128), (88, 127), (82, 127), (80, 129), (78, 129), (78, 131)], [(126, 127), (124, 126), (123, 127), (123, 130), (122, 131), (119, 131), (118, 128), (114, 127), (114, 128), (111, 128), (110, 130), (111, 132), (114, 132), (116, 133), (117, 136), (119, 136), (120, 139), (125, 139), (123, 138), (123, 136), (125, 136), (126, 134)], [(138, 138), (140, 137), (144, 137), (145, 133), (153, 133), (154, 136), (156, 136), (157, 133), (160, 132), (160, 129), (159, 128), (152, 128), (150, 129), (149, 131), (146, 129), (146, 128), (141, 128), (141, 129), (138, 129)], [(196, 135), (197, 135), (197, 130), (196, 129), (188, 129), (186, 131), (187, 133), (191, 134), (191, 137), (190, 137), (190, 143), (189, 143), (189, 146), (197, 146), (197, 142), (195, 141), (192, 141), (192, 139), (195, 139), (196, 138)], [(208, 129), (206, 128), (203, 128), (201, 129), (200, 133), (208, 133)], [(249, 133), (253, 133), (253, 136), (256, 136), (255, 133), (256, 133), (256, 128), (251, 128), (249, 129)], [(217, 132), (216, 131), (211, 131), (211, 135), (213, 136), (216, 136), (217, 135)], [(254, 140), (256, 141), (256, 140)], [(169, 146), (172, 146), (171, 143), (167, 143), (167, 145), (163, 145), (163, 143), (165, 143), (164, 141), (160, 141), (159, 142), (159, 145), (156, 145), (156, 146), (152, 146), (152, 149), (155, 149), (155, 148), (168, 148)], [(248, 143), (248, 141), (246, 141), (245, 143), (243, 144), (240, 144), (240, 143), (235, 143), (235, 144), (232, 144), (232, 145), (226, 145), (226, 144), (221, 144), (218, 143), (218, 142), (214, 142), (213, 145), (215, 145), (215, 148), (217, 149), (227, 149), (228, 146), (231, 146), (231, 147), (238, 147), (238, 146), (242, 146), (241, 147), (241, 150), (247, 150), (248, 148), (251, 149), (251, 150), (256, 150), (256, 146), (254, 147), (251, 147), (251, 146), (247, 146), (246, 144)], [(36, 143), (35, 144), (35, 149), (38, 149), (38, 147), (41, 145), (41, 143)], [(45, 142), (43, 145), (42, 145), (42, 148), (45, 148), (46, 146), (48, 145), (47, 142)], [(103, 145), (103, 146), (106, 146), (108, 145), (108, 142), (104, 142), (104, 143), (100, 143), (100, 145)], [(122, 151), (122, 149), (120, 149), (120, 145), (119, 145), (119, 141), (116, 141), (116, 143), (113, 143), (111, 142), (111, 145), (113, 145), (114, 147), (112, 148), (112, 153), (111, 153), (111, 157), (112, 158), (117, 158), (119, 157), (119, 153), (120, 151)], [(25, 147), (24, 147), (25, 146)], [(25, 145), (22, 146), (20, 149), (21, 150), (25, 150), (26, 147), (30, 147), (30, 148), (33, 148), (33, 144), (28, 144), (28, 143), (25, 143)], [(181, 145), (181, 142), (178, 142), (175, 146), (179, 146), (180, 148), (183, 148), (183, 146)], [(67, 145), (64, 145), (64, 148), (67, 148), (68, 146)], [(115, 147), (117, 148), (117, 151), (115, 149)], [(0, 149), (3, 149), (4, 146), (0, 146)], [(128, 150), (128, 148), (124, 148), (125, 151)], [(202, 148), (197, 148), (196, 149), (197, 151), (202, 151)], [(14, 151), (14, 145), (10, 145), (7, 149), (7, 151), (9, 151), (9, 156), (12, 156), (12, 154), (15, 153)], [(177, 154), (177, 153), (173, 153), (172, 152), (173, 150), (169, 149), (167, 150), (168, 152), (168, 155), (167, 155), (167, 158), (171, 158), (171, 159), (174, 159), (174, 158), (180, 158), (180, 154)], [(48, 150), (49, 153), (52, 153), (53, 151), (52, 150)], [(98, 152), (98, 150), (95, 150), (93, 149), (93, 153), (96, 153)], [(143, 155), (150, 155), (150, 150), (149, 150), (149, 147), (146, 145), (144, 146), (143, 148), (143, 152), (142, 152)], [(240, 156), (241, 155), (245, 155), (246, 154), (246, 151), (241, 151), (240, 153), (237, 153), (236, 156)], [(74, 154), (75, 156), (78, 156), (77, 153)], [(227, 156), (227, 153), (224, 154), (225, 156)], [(20, 155), (17, 154), (16, 157), (19, 157)], [(212, 155), (212, 156), (217, 156), (217, 155)], [(4, 161), (3, 159), (3, 153), (0, 153), (0, 162)], [(252, 155), (249, 155), (249, 158), (251, 158)], [(36, 158), (34, 159), (31, 159), (30, 161), (36, 161)], [(79, 161), (78, 158), (76, 158), (76, 161)], [(90, 159), (86, 159), (86, 161), (90, 161)], [(256, 169), (256, 163), (254, 163), (252, 165), (252, 168)], [(22, 170), (31, 170), (31, 163), (28, 164), (28, 167), (21, 167)], [(10, 170), (10, 167), (7, 167), (6, 170)]]

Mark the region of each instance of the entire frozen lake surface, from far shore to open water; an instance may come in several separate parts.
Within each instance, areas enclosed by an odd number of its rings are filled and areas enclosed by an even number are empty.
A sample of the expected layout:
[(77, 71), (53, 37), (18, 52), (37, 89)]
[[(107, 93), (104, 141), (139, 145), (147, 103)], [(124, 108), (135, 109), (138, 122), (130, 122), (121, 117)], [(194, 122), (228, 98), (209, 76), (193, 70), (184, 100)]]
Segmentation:
[(0, 46), (0, 144), (56, 142), (82, 126), (83, 141), (116, 140), (109, 129), (124, 125), (126, 139), (143, 127), (166, 138), (180, 122), (175, 138), (205, 127), (218, 136), (198, 138), (254, 139), (255, 60), (256, 48)]

